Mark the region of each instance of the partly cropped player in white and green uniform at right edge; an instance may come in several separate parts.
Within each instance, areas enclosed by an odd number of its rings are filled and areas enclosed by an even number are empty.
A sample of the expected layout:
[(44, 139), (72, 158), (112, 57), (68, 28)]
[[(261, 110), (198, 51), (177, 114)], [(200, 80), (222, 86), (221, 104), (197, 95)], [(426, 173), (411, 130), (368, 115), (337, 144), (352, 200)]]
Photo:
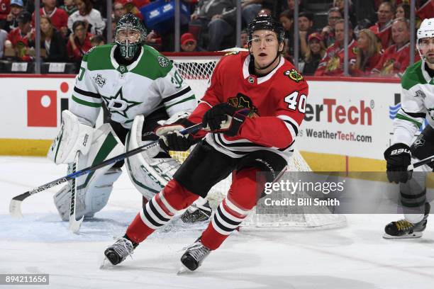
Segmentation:
[[(400, 183), (404, 220), (385, 227), (384, 238), (421, 237), (430, 212), (426, 200), (426, 175), (434, 164), (407, 171), (407, 166), (434, 154), (434, 18), (425, 19), (418, 29), (417, 48), (421, 61), (406, 69), (401, 79), (401, 109), (394, 120), (394, 140), (384, 152), (389, 181)], [(428, 125), (412, 142), (423, 121)]]

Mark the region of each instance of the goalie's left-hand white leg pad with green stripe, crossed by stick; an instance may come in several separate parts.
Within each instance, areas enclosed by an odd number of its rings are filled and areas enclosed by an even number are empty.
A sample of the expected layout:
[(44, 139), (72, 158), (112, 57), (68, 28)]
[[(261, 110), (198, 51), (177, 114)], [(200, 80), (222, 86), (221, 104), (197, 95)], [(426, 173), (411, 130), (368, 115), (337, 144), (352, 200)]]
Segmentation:
[[(122, 154), (124, 147), (109, 123), (94, 131), (93, 141), (87, 155), (80, 155), (77, 171), (104, 162), (106, 159)], [(77, 183), (77, 217), (91, 217), (106, 205), (113, 189), (113, 183), (121, 176), (121, 169), (104, 166), (89, 174), (79, 176)], [(70, 165), (69, 165), (70, 166)], [(69, 220), (71, 192), (69, 185), (54, 196), (57, 210), (62, 220)]]

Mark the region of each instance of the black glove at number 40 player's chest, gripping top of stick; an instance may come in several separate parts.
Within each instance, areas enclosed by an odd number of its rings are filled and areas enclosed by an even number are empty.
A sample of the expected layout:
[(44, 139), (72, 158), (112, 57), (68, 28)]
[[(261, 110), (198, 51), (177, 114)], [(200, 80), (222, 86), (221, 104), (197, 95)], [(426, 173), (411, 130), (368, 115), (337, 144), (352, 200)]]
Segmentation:
[(209, 128), (211, 132), (223, 132), (233, 137), (238, 135), (248, 112), (248, 108), (234, 108), (228, 103), (219, 103), (206, 111), (202, 118), (202, 125), (204, 128)]

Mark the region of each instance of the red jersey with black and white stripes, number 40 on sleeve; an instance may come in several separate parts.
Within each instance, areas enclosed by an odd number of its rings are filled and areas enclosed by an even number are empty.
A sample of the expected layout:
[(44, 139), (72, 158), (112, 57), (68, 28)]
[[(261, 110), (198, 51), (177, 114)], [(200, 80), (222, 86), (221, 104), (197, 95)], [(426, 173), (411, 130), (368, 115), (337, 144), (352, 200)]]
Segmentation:
[(205, 96), (189, 120), (200, 123), (204, 113), (218, 103), (250, 108), (237, 136), (208, 133), (206, 142), (218, 152), (234, 158), (266, 149), (289, 161), (304, 118), (308, 84), (283, 57), (264, 77), (250, 74), (249, 64), (248, 52), (223, 57), (214, 69)]

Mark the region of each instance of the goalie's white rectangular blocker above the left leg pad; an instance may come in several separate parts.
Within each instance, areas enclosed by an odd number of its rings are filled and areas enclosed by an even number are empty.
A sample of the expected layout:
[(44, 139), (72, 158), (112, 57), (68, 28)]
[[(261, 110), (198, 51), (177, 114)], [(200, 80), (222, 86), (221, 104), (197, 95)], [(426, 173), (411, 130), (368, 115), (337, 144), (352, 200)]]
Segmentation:
[(62, 111), (60, 132), (48, 149), (48, 159), (55, 164), (69, 164), (74, 162), (77, 152), (87, 155), (93, 131), (94, 128), (80, 123), (77, 116), (70, 111)]

